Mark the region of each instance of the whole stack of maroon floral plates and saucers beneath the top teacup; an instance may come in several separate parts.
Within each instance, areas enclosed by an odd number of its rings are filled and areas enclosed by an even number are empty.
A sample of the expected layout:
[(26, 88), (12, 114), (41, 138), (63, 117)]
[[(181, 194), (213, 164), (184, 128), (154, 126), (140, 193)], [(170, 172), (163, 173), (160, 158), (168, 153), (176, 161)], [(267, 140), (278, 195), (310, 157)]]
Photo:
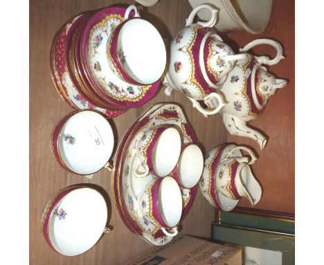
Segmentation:
[[(125, 20), (126, 8), (84, 12), (64, 24), (51, 46), (51, 76), (62, 99), (75, 110), (95, 109), (114, 118), (150, 101), (161, 80), (132, 85), (109, 67), (106, 48), (111, 31)], [(134, 16), (134, 11), (129, 17)]]

